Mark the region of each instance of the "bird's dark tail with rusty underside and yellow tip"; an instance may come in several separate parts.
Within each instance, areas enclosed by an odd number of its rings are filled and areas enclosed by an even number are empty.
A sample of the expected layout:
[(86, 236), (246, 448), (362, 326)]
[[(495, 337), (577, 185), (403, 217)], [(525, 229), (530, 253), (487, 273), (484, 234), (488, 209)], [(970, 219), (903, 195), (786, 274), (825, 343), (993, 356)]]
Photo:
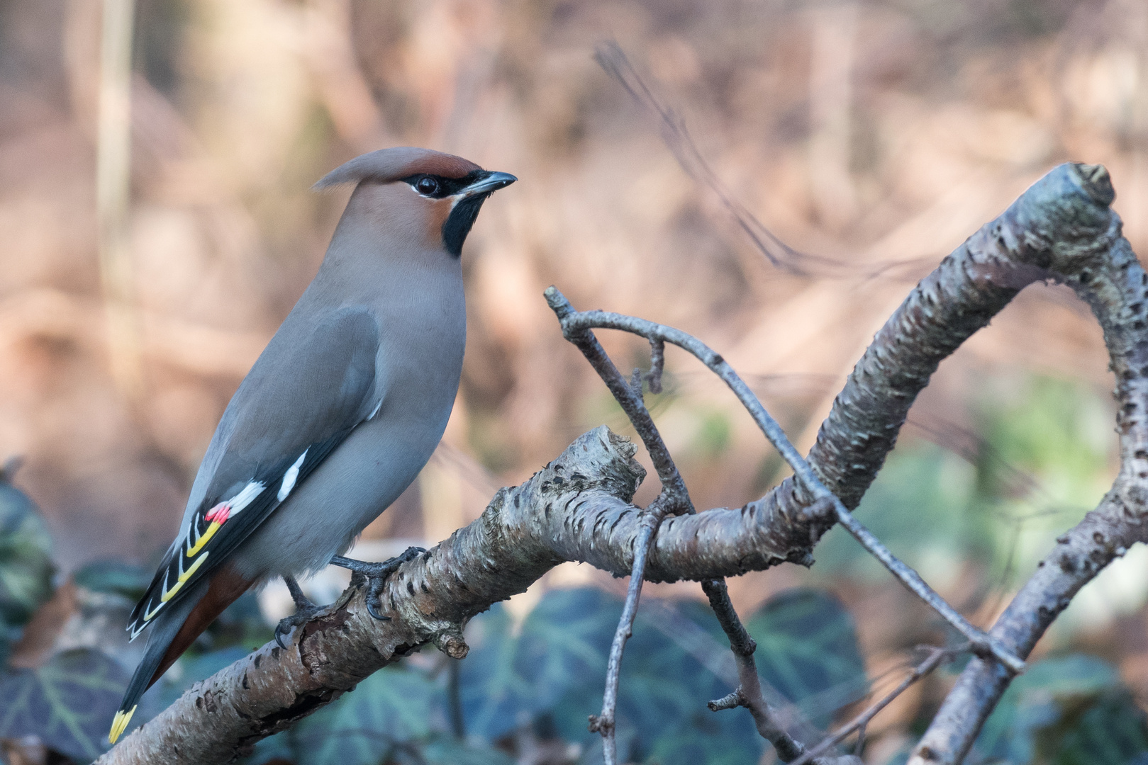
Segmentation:
[(158, 614), (150, 623), (144, 659), (135, 668), (119, 711), (111, 721), (108, 741), (116, 743), (132, 720), (140, 696), (163, 677), (187, 647), (251, 586), (250, 579), (236, 575), (225, 565), (209, 578), (195, 583), (189, 591), (172, 603), (170, 609)]

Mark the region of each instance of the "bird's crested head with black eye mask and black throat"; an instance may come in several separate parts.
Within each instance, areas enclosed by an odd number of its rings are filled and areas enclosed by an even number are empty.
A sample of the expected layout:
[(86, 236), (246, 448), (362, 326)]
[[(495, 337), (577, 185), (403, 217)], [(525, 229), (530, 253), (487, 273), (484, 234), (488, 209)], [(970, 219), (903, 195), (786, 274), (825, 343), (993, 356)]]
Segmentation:
[(357, 184), (347, 214), (365, 213), (374, 225), (457, 258), (482, 203), (515, 180), (451, 154), (395, 147), (355, 157), (315, 188)]

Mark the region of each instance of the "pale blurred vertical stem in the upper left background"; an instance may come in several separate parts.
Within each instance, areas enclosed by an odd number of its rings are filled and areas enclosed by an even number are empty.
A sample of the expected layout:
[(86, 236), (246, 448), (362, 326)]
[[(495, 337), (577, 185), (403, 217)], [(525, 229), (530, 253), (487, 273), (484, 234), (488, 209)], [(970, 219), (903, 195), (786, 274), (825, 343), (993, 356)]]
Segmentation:
[(142, 388), (141, 331), (127, 235), (134, 5), (134, 0), (103, 0), (95, 157), (100, 284), (103, 289), (108, 356), (116, 385), (132, 399), (139, 396)]

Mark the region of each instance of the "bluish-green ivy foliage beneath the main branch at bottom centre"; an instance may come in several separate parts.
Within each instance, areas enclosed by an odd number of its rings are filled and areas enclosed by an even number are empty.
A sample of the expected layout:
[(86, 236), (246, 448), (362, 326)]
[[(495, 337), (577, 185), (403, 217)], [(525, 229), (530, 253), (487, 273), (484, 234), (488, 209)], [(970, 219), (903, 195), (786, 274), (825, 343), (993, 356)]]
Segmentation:
[[(458, 668), (458, 704), (464, 741), (481, 744), (476, 751), (486, 748), (494, 758), (483, 762), (504, 757), (499, 750), (510, 751), (523, 732), (574, 744), (572, 751), (594, 750), (598, 736), (587, 729), (587, 718), (602, 709), (621, 608), (620, 600), (599, 590), (556, 590), (521, 623), (502, 604), (471, 622), (471, 653)], [(819, 711), (825, 711), (827, 692), (841, 694), (836, 707), (863, 695), (864, 664), (853, 620), (836, 599), (809, 590), (786, 592), (768, 601), (747, 627), (761, 646), (762, 680), (776, 681), (781, 703), (800, 708), (816, 700)], [(728, 645), (707, 607), (661, 603), (639, 611), (619, 687), (619, 754), (626, 762), (758, 762), (763, 742), (748, 712), (705, 708), (730, 690), (712, 670), (715, 659), (732, 671)], [(372, 765), (411, 747), (424, 751), (452, 733), (445, 674), (387, 668), (261, 744), (255, 762), (281, 757), (300, 765)]]

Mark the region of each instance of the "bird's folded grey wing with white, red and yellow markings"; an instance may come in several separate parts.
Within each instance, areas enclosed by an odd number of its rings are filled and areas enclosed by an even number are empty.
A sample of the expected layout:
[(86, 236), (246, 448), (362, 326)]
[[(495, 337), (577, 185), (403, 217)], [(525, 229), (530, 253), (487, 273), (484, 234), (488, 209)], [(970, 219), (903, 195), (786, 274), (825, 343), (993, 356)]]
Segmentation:
[(180, 536), (129, 623), (134, 638), (164, 604), (231, 553), (380, 404), (379, 327), (365, 310), (288, 317), (224, 412), (192, 487)]

